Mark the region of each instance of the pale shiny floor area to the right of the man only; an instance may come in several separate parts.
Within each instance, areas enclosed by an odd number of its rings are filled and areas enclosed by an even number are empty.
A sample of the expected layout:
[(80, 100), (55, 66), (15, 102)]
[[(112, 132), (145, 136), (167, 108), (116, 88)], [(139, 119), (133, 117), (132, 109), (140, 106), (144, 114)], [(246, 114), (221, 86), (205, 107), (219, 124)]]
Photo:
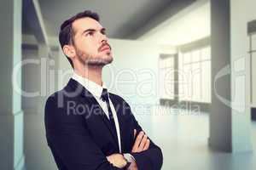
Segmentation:
[(153, 138), (157, 139), (164, 155), (162, 170), (256, 169), (256, 122), (252, 122), (254, 154), (230, 154), (208, 148), (208, 119), (207, 113), (186, 111), (153, 116), (157, 125), (152, 127)]

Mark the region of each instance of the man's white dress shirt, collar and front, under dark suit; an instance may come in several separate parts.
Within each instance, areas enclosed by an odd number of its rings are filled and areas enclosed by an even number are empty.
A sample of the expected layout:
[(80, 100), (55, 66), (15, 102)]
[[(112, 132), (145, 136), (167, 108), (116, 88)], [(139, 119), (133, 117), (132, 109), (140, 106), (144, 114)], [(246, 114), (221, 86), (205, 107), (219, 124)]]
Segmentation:
[[(108, 105), (105, 101), (103, 101), (101, 99), (102, 96), (102, 90), (103, 88), (106, 88), (105, 83), (102, 83), (102, 86), (98, 85), (96, 82), (92, 82), (89, 79), (85, 78), (85, 77), (81, 77), (79, 76), (77, 73), (73, 72), (73, 80), (79, 82), (80, 84), (82, 84), (84, 86), (84, 88), (86, 88), (90, 94), (92, 94), (97, 102), (99, 103), (99, 105), (102, 107), (102, 110), (104, 111), (104, 113), (106, 114), (106, 116), (108, 116)], [(118, 142), (119, 142), (119, 153), (121, 153), (121, 139), (120, 139), (120, 128), (119, 128), (119, 121), (118, 121), (118, 117), (116, 114), (116, 111), (113, 107), (113, 103), (111, 101), (111, 99), (109, 99), (109, 105), (111, 108), (111, 111), (113, 113), (113, 120), (114, 120), (114, 124), (115, 124), (115, 128), (116, 128), (116, 132), (117, 132), (117, 137), (118, 137)], [(108, 116), (109, 119), (109, 116)]]

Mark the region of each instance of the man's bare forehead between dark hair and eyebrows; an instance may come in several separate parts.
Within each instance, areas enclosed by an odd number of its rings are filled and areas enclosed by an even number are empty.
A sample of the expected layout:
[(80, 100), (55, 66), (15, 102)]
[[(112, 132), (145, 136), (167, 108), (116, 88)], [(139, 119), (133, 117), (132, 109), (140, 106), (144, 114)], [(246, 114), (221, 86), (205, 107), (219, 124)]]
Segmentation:
[(79, 32), (79, 31), (84, 31), (87, 29), (96, 29), (96, 30), (101, 30), (102, 29), (102, 25), (90, 18), (90, 17), (84, 17), (78, 20), (73, 21), (73, 31), (75, 32)]

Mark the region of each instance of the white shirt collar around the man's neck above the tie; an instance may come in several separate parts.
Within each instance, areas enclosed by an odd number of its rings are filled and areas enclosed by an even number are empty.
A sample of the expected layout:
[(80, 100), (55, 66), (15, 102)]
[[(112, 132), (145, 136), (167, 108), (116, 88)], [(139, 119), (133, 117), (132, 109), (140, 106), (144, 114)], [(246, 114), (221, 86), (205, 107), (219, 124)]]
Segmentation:
[(88, 78), (81, 77), (75, 72), (73, 72), (72, 78), (73, 80), (82, 84), (84, 88), (86, 88), (90, 92), (90, 94), (93, 94), (98, 98), (101, 98), (103, 88), (107, 88), (104, 82), (102, 82), (102, 86), (100, 86), (96, 82), (92, 82)]

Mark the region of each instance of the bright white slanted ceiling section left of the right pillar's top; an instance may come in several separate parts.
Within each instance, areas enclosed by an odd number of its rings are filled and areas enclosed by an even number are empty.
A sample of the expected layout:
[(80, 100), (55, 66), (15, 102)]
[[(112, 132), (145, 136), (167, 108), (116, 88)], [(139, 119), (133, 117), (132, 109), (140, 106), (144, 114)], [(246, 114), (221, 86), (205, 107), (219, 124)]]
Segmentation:
[(138, 39), (177, 46), (209, 37), (210, 24), (210, 2), (199, 0)]

